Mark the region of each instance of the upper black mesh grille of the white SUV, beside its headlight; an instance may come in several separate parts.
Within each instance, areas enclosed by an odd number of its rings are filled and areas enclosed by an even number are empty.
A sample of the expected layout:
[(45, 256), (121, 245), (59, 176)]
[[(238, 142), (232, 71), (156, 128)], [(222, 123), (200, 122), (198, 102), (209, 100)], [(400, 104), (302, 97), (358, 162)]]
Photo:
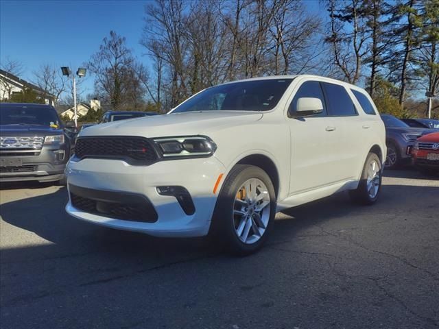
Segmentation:
[(75, 155), (80, 159), (121, 159), (130, 164), (148, 164), (158, 159), (154, 146), (147, 138), (132, 136), (78, 138)]

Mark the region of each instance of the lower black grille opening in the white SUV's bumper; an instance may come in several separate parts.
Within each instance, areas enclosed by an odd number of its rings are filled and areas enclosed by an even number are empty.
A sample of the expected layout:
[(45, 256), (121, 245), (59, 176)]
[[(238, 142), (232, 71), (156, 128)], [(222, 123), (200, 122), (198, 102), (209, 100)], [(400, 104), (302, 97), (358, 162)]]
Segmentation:
[(157, 221), (156, 210), (143, 195), (99, 191), (71, 184), (69, 190), (73, 207), (85, 212), (126, 221)]

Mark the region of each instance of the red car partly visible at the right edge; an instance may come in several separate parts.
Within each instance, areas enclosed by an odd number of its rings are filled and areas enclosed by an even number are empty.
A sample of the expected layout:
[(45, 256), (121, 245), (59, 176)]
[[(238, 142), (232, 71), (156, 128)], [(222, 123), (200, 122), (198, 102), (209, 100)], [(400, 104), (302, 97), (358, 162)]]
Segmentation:
[(418, 138), (412, 150), (414, 165), (424, 173), (439, 173), (439, 132)]

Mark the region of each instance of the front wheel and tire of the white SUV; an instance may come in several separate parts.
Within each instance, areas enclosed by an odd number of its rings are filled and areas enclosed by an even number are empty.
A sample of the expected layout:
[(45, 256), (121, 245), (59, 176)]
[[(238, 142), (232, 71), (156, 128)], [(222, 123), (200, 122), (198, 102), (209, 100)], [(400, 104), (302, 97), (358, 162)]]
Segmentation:
[(246, 256), (268, 239), (274, 215), (276, 195), (268, 174), (259, 167), (237, 164), (219, 192), (211, 234), (231, 254)]

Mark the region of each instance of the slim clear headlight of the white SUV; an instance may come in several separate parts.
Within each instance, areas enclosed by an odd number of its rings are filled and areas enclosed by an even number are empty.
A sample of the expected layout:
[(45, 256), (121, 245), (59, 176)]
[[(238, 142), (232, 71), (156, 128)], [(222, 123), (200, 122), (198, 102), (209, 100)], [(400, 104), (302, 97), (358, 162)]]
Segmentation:
[(215, 153), (217, 145), (205, 136), (181, 136), (169, 138), (155, 138), (164, 158), (211, 156)]

